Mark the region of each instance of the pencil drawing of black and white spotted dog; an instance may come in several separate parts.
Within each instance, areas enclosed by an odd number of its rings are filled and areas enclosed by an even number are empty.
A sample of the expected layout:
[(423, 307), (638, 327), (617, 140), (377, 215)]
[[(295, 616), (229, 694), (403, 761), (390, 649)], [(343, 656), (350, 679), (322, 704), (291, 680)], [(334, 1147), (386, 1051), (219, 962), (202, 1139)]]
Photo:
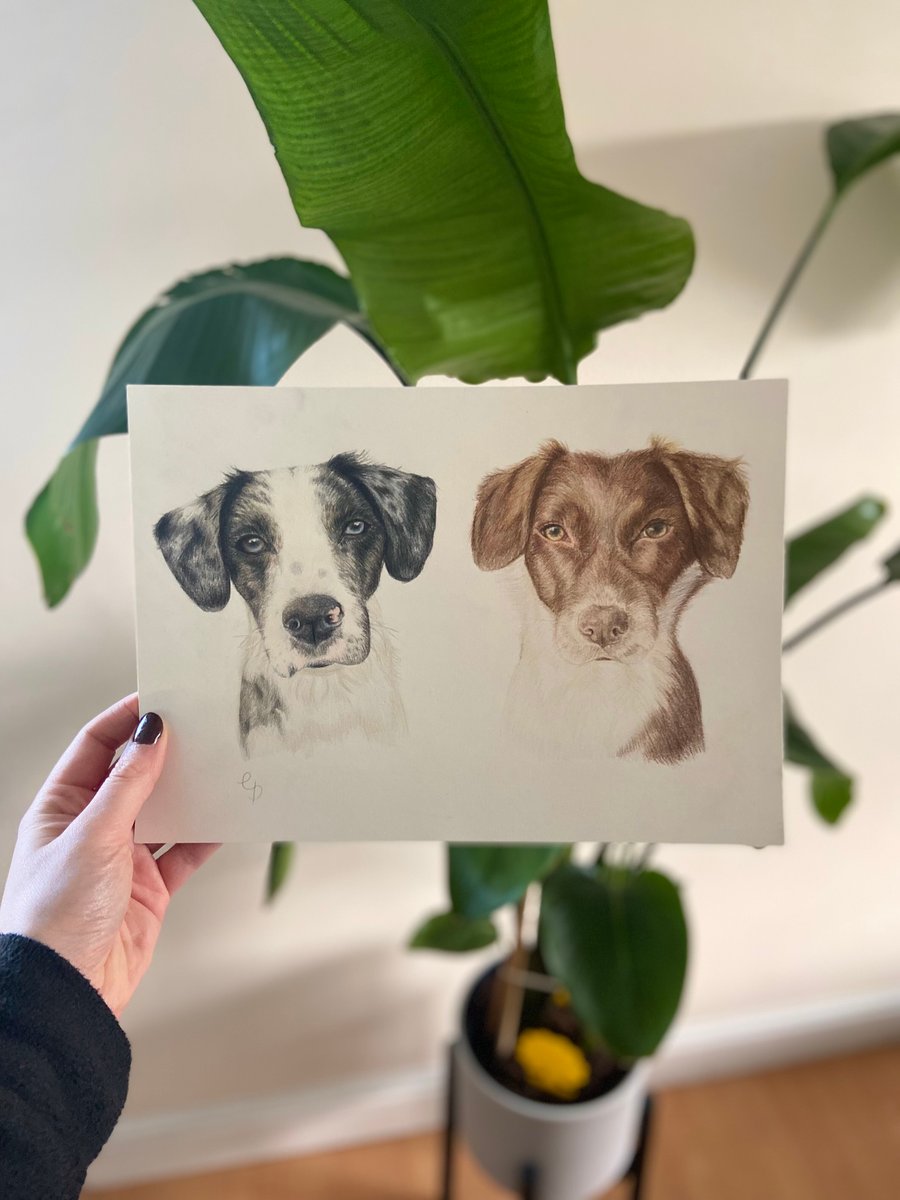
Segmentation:
[(250, 611), (240, 742), (256, 756), (406, 730), (396, 652), (374, 598), (382, 568), (414, 580), (434, 536), (434, 481), (340, 454), (235, 470), (154, 533), (204, 612), (232, 587)]

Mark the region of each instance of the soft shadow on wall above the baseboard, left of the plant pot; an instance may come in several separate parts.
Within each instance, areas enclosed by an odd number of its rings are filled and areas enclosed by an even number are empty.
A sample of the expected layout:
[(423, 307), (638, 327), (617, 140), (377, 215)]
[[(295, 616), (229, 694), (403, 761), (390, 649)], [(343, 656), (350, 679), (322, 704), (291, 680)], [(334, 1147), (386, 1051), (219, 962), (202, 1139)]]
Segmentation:
[(322, 959), (257, 988), (222, 990), (176, 1020), (146, 1021), (132, 1045), (140, 1111), (421, 1069), (438, 1050), (438, 997), (409, 983), (406, 952), (392, 942)]

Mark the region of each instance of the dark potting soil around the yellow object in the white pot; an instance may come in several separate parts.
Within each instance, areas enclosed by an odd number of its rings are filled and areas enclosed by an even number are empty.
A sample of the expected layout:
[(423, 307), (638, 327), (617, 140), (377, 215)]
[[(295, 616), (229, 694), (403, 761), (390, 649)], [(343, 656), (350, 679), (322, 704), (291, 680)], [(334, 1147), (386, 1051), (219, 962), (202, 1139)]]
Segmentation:
[(584, 1052), (590, 1066), (590, 1079), (575, 1099), (564, 1100), (529, 1084), (515, 1058), (498, 1058), (494, 1054), (493, 1034), (488, 1032), (487, 1027), (487, 1009), (494, 973), (494, 971), (488, 972), (475, 984), (466, 1007), (464, 1021), (464, 1033), (469, 1045), (479, 1063), (492, 1079), (509, 1088), (510, 1092), (515, 1092), (516, 1096), (524, 1096), (529, 1100), (540, 1100), (542, 1104), (581, 1104), (584, 1100), (594, 1100), (599, 1096), (605, 1096), (606, 1092), (611, 1092), (617, 1084), (622, 1082), (629, 1068), (623, 1067), (602, 1050), (593, 1052), (587, 1050), (581, 1022), (571, 1008), (554, 1004), (550, 996), (539, 991), (529, 990), (526, 992), (520, 1028), (552, 1030), (553, 1033), (560, 1033), (569, 1038)]

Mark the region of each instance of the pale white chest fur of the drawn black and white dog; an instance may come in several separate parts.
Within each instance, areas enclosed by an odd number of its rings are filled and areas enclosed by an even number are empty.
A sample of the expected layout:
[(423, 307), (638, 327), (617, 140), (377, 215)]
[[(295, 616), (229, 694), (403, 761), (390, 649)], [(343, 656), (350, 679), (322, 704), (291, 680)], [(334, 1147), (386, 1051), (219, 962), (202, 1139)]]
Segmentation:
[(262, 636), (251, 620), (244, 674), (245, 678), (264, 674), (276, 689), (281, 722), (250, 730), (247, 757), (284, 750), (310, 751), (360, 738), (385, 743), (407, 732), (396, 650), (382, 625), (378, 606), (370, 601), (368, 607), (372, 642), (364, 662), (306, 668), (289, 679), (272, 674)]

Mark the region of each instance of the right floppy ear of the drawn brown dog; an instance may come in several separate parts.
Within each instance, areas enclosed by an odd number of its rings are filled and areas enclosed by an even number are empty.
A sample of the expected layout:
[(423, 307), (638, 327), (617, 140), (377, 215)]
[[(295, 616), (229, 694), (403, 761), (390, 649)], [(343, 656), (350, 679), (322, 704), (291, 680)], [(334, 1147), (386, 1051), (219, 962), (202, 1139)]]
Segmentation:
[(740, 460), (658, 449), (682, 493), (700, 565), (709, 575), (731, 578), (750, 503)]

